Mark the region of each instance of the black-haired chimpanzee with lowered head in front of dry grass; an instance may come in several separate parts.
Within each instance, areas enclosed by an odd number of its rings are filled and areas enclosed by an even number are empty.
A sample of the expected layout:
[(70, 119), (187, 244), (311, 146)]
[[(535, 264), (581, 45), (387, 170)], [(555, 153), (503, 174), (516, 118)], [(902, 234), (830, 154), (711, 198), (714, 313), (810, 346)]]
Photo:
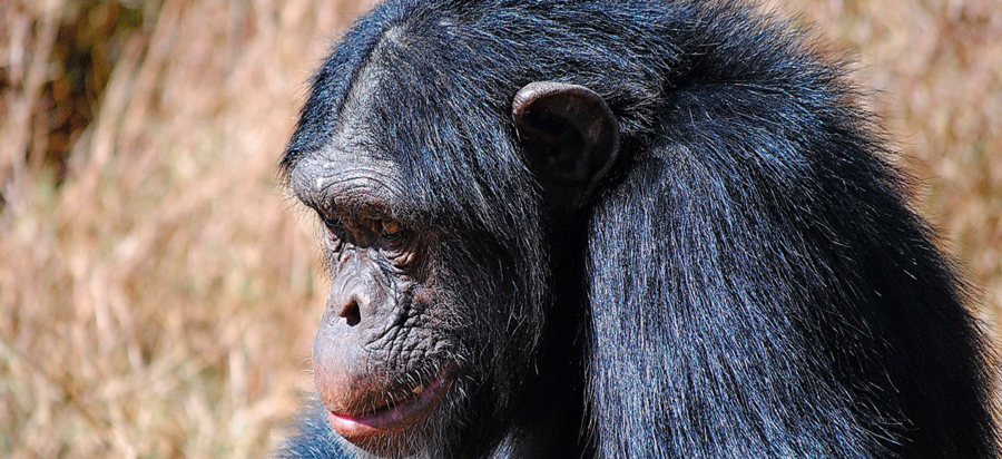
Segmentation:
[(845, 66), (757, 11), (360, 19), (282, 160), (333, 281), (278, 455), (995, 457), (964, 284)]

